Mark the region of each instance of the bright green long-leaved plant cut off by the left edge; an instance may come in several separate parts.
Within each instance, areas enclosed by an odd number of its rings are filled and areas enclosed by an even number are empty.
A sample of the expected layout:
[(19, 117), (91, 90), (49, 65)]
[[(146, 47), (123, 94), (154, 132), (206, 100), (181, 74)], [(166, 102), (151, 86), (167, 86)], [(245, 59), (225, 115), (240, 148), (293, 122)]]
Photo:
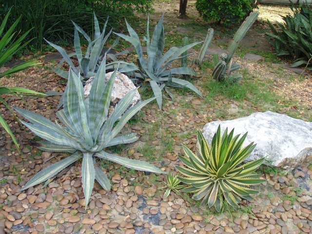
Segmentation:
[[(5, 63), (10, 61), (13, 55), (20, 52), (20, 50), (24, 48), (31, 41), (31, 40), (28, 40), (27, 42), (22, 43), (22, 40), (25, 39), (25, 37), (30, 32), (30, 30), (20, 35), (20, 37), (19, 37), (19, 34), (15, 31), (15, 28), (20, 21), (20, 17), (9, 27), (9, 29), (6, 32), (4, 32), (4, 28), (6, 26), (6, 23), (7, 23), (7, 20), (9, 19), (10, 14), (11, 14), (11, 9), (5, 15), (0, 25), (0, 68), (3, 67)], [(37, 64), (39, 64), (39, 62), (36, 60), (22, 62), (0, 73), (0, 78), (22, 71), (22, 70), (25, 70)], [(35, 91), (21, 88), (21, 87), (3, 87), (3, 86), (0, 86), (0, 95), (44, 96), (44, 94), (41, 94), (39, 92), (35, 92)], [(5, 107), (11, 111), (11, 113), (13, 113), (8, 103), (3, 98), (0, 98), (0, 102), (2, 102), (5, 105)], [(19, 150), (20, 148), (19, 148), (19, 144), (16, 138), (14, 137), (12, 131), (10, 130), (9, 125), (7, 124), (7, 122), (5, 122), (4, 118), (1, 115), (0, 115), (0, 125), (10, 135), (15, 146)]]

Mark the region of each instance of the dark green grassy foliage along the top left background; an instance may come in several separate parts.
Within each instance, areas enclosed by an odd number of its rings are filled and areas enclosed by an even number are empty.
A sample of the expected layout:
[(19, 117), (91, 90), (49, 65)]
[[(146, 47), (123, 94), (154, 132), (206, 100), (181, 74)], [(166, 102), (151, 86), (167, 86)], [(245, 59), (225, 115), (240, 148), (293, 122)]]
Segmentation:
[[(42, 49), (43, 38), (51, 41), (71, 42), (74, 34), (72, 20), (87, 33), (93, 33), (93, 12), (99, 22), (110, 17), (109, 27), (116, 29), (124, 16), (133, 15), (136, 10), (150, 11), (153, 0), (0, 0), (0, 20), (2, 21), (10, 7), (11, 21), (22, 16), (17, 30), (22, 33), (35, 28), (29, 34), (36, 49)], [(3, 7), (2, 7), (3, 6)]]

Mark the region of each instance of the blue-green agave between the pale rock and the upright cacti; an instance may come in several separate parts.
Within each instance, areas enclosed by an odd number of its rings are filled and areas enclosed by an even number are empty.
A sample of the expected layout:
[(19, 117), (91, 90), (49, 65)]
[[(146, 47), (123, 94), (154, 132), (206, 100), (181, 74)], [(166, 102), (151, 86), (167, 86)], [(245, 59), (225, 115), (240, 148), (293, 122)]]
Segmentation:
[[(174, 75), (195, 75), (194, 71), (191, 68), (170, 68), (170, 66), (176, 59), (181, 59), (183, 57), (182, 54), (184, 52), (188, 51), (190, 48), (200, 42), (194, 42), (192, 44), (183, 46), (182, 48), (172, 47), (163, 55), (165, 42), (164, 27), (162, 24), (163, 18), (164, 16), (162, 15), (159, 22), (156, 24), (152, 39), (150, 39), (149, 33), (149, 18), (147, 19), (146, 38), (144, 37), (144, 40), (146, 41), (147, 58), (145, 58), (143, 55), (142, 46), (140, 44), (140, 39), (137, 33), (129, 25), (127, 20), (126, 24), (130, 36), (115, 33), (117, 36), (129, 41), (134, 45), (138, 56), (138, 66), (140, 68), (140, 71), (136, 72), (135, 76), (142, 81), (142, 85), (149, 83), (149, 85), (152, 87), (152, 90), (157, 97), (156, 100), (160, 110), (162, 104), (161, 94), (163, 89), (168, 93), (171, 98), (173, 98), (172, 94), (167, 89), (167, 86), (177, 88), (189, 88), (197, 95), (202, 97), (201, 93), (189, 81), (179, 78), (173, 78)], [(184, 57), (187, 56), (188, 55), (185, 55)]]

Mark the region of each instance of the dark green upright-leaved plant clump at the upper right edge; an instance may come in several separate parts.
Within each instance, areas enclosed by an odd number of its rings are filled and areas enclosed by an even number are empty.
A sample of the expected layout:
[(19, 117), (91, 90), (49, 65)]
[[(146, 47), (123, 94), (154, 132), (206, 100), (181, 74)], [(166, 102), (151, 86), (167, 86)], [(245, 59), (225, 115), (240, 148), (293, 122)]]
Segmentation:
[[(283, 16), (283, 23), (275, 22), (277, 29), (268, 20), (272, 33), (266, 33), (277, 56), (295, 60), (292, 67), (306, 65), (309, 70), (312, 59), (312, 9), (303, 4), (291, 6), (292, 13)], [(308, 67), (310, 65), (310, 67)]]

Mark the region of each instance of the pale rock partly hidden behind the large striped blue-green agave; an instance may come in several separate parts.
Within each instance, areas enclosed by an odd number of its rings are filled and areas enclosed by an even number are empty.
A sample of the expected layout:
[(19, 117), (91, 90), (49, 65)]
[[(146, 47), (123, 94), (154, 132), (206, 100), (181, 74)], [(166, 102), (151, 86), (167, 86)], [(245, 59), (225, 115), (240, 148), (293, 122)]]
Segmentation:
[[(109, 72), (105, 74), (105, 80), (107, 81), (111, 77), (112, 74), (113, 72)], [(84, 86), (84, 98), (89, 98), (90, 90), (91, 90), (94, 79), (95, 77), (91, 77), (87, 80)], [(134, 83), (131, 81), (130, 78), (118, 72), (114, 80), (112, 97), (111, 97), (111, 106), (114, 108), (121, 98), (123, 98), (128, 92), (130, 92), (131, 90), (134, 90), (135, 88), (136, 86), (134, 85)], [(141, 102), (141, 96), (137, 91), (129, 108), (133, 107), (139, 102)], [(111, 111), (112, 110), (110, 110), (110, 113)]]

